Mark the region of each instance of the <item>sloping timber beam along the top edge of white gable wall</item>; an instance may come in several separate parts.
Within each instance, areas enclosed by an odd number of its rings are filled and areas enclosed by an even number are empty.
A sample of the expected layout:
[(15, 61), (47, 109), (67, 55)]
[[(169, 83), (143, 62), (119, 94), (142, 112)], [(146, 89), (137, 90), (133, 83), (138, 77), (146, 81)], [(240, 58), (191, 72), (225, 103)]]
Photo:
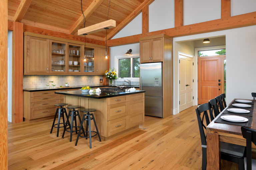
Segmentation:
[(137, 17), (142, 9), (146, 5), (150, 5), (154, 0), (145, 0), (140, 6), (138, 6), (128, 17), (126, 17), (120, 24), (117, 25), (108, 35), (107, 40), (113, 38), (119, 31), (121, 31), (129, 22), (131, 22), (135, 17)]

